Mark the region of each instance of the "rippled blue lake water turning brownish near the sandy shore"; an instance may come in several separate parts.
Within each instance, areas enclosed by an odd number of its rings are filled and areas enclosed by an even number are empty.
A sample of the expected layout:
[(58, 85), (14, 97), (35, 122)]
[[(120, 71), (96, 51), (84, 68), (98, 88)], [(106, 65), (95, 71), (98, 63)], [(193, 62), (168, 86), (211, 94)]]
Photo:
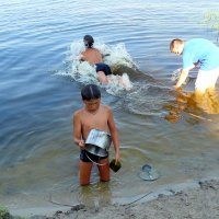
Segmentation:
[[(182, 60), (169, 44), (176, 37), (217, 43), (217, 31), (200, 23), (218, 7), (218, 0), (0, 0), (0, 204), (12, 210), (56, 206), (51, 200), (104, 206), (217, 176), (217, 104), (198, 107), (176, 94), (172, 78)], [(112, 51), (114, 64), (126, 59), (137, 69), (126, 66), (130, 90), (102, 88), (123, 168), (107, 184), (99, 183), (94, 169), (92, 185), (81, 189), (72, 114), (83, 106), (80, 89), (89, 81), (76, 77), (72, 57), (85, 34)], [(191, 77), (185, 90), (193, 88)], [(139, 177), (146, 163), (159, 180)]]

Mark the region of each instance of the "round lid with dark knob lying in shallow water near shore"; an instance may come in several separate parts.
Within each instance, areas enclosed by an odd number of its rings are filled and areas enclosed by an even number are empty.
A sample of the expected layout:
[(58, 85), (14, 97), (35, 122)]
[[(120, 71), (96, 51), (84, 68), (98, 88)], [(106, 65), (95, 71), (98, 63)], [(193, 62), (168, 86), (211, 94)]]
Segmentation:
[(141, 168), (139, 176), (145, 181), (155, 181), (159, 178), (160, 174), (158, 171), (149, 164), (145, 164)]

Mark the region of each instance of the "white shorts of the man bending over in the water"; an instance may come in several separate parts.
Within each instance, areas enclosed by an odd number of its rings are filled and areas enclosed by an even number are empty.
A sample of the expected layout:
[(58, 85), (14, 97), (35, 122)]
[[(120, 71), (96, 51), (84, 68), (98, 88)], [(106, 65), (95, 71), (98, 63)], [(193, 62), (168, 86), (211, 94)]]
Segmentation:
[(219, 68), (210, 71), (199, 70), (195, 82), (195, 88), (198, 91), (205, 91), (209, 88), (215, 88), (217, 79), (219, 77)]

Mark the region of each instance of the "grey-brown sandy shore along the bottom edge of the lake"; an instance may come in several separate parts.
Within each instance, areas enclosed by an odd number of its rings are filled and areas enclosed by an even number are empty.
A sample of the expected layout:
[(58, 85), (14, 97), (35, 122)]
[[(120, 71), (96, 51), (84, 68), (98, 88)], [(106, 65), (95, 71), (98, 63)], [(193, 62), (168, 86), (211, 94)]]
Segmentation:
[[(76, 205), (66, 209), (37, 215), (31, 219), (217, 219), (219, 218), (219, 181), (206, 180), (194, 183), (187, 188), (169, 189), (165, 193), (143, 194), (125, 205), (88, 207)], [(13, 217), (14, 219), (16, 216)]]

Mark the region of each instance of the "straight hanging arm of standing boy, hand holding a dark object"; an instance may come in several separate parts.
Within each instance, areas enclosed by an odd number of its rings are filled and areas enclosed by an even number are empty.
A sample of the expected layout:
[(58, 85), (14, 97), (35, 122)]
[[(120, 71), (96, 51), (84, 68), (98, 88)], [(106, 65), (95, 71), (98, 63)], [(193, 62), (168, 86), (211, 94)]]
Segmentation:
[(116, 129), (113, 112), (111, 108), (108, 108), (108, 128), (111, 131), (113, 145), (114, 145), (114, 149), (116, 153), (116, 163), (117, 163), (120, 160), (120, 150), (119, 150), (118, 132)]

